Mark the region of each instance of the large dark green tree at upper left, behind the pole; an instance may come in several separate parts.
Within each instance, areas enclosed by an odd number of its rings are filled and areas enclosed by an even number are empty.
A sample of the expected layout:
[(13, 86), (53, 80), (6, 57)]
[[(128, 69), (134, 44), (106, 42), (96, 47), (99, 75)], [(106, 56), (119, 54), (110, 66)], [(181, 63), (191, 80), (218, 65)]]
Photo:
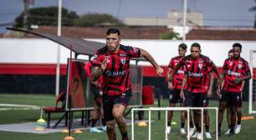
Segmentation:
[[(24, 13), (18, 15), (15, 19), (14, 27), (23, 28)], [(68, 9), (62, 8), (62, 25), (74, 26), (74, 20), (79, 16)], [(58, 24), (58, 7), (35, 7), (28, 10), (28, 27), (31, 25), (50, 25), (57, 26)]]

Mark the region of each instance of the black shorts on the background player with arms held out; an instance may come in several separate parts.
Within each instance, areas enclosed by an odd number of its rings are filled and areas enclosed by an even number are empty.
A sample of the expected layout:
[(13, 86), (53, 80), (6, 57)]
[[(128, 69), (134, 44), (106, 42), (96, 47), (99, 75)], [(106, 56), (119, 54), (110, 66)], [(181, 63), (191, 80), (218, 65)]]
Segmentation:
[(185, 107), (207, 107), (209, 104), (207, 93), (185, 92)]

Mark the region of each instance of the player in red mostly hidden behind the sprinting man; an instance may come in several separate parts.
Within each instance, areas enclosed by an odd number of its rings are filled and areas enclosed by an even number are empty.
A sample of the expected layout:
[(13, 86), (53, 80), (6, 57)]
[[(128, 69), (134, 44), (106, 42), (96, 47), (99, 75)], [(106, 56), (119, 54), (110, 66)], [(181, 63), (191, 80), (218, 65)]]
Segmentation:
[(93, 67), (93, 63), (91, 61), (86, 62), (84, 65), (84, 70), (86, 72), (87, 77), (90, 78), (90, 89), (91, 92), (94, 94), (94, 113), (93, 118), (91, 120), (91, 128), (90, 133), (102, 133), (102, 131), (99, 128), (95, 127), (95, 124), (99, 118), (101, 118), (102, 122), (102, 130), (106, 131), (106, 123), (105, 118), (103, 115), (103, 107), (102, 107), (102, 98), (101, 98), (101, 84), (102, 84), (102, 76), (98, 78), (97, 81), (93, 82), (91, 80), (91, 70)]

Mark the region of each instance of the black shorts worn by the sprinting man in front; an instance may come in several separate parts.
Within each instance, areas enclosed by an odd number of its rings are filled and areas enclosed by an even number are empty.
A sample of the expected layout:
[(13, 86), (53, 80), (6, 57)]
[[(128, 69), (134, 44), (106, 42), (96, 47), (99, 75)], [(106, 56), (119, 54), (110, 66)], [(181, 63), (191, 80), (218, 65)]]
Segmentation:
[(129, 104), (129, 100), (131, 97), (131, 90), (120, 93), (117, 96), (108, 96), (103, 94), (102, 95), (102, 102), (103, 102), (103, 111), (104, 117), (106, 121), (114, 120), (115, 117), (113, 116), (113, 107), (115, 104), (121, 104), (124, 107), (127, 107)]

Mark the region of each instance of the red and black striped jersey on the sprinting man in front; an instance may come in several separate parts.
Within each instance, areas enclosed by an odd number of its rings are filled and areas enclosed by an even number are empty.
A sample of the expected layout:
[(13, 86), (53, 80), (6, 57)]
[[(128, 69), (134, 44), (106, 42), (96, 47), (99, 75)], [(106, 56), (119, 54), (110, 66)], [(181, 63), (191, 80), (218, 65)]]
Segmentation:
[(117, 53), (110, 53), (106, 46), (95, 53), (93, 62), (96, 66), (100, 67), (100, 62), (106, 59), (107, 66), (103, 72), (102, 85), (102, 90), (106, 95), (115, 96), (131, 90), (129, 68), (132, 57), (141, 57), (141, 50), (121, 44)]

